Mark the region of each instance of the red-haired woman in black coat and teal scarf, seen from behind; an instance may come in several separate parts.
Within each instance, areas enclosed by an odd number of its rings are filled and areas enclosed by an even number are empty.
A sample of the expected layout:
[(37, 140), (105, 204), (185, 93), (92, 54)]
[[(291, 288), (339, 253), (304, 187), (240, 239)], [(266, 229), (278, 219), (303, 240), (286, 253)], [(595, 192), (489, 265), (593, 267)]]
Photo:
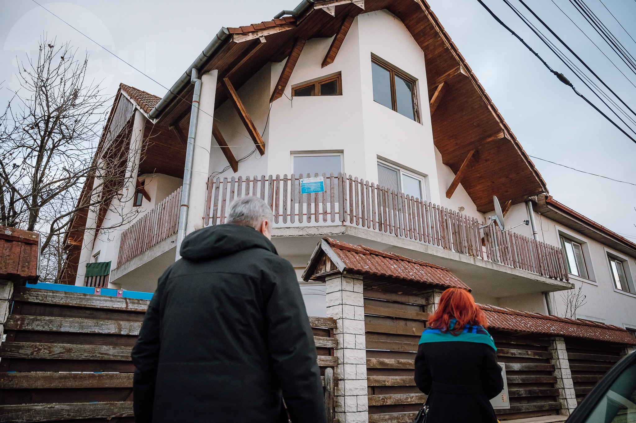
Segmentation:
[(487, 326), (469, 292), (441, 295), (415, 357), (415, 384), (429, 396), (427, 423), (497, 422), (488, 400), (504, 382)]

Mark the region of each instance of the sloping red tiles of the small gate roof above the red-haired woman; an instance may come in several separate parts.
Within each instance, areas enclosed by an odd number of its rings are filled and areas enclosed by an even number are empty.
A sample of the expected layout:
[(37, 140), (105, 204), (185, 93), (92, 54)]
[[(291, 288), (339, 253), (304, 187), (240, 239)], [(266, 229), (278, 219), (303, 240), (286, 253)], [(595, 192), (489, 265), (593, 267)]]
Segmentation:
[(436, 285), (442, 288), (463, 288), (468, 285), (445, 267), (414, 260), (402, 255), (387, 253), (362, 245), (351, 245), (323, 238), (345, 265), (346, 271), (356, 274), (371, 274)]

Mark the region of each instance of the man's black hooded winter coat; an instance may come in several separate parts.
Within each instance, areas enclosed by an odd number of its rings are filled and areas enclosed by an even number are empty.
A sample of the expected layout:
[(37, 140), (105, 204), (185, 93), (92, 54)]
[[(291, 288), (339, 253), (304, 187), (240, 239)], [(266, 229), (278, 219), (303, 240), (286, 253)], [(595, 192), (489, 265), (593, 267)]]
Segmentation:
[[(312, 329), (292, 265), (261, 233), (188, 235), (132, 350), (137, 423), (324, 423)], [(286, 420), (286, 419), (285, 419)]]

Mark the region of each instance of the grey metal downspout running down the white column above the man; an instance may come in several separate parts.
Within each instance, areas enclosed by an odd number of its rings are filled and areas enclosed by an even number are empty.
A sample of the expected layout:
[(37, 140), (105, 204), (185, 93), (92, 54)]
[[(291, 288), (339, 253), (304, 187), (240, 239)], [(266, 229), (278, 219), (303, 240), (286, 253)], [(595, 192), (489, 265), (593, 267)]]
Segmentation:
[(183, 170), (183, 188), (181, 188), (181, 208), (179, 208), (179, 229), (177, 229), (177, 254), (176, 260), (181, 258), (181, 243), (186, 236), (186, 224), (188, 224), (188, 209), (190, 207), (190, 184), (192, 179), (192, 161), (194, 159), (195, 136), (197, 135), (198, 105), (201, 98), (201, 79), (198, 77), (197, 68), (192, 68), (190, 83), (195, 84), (195, 92), (192, 95), (192, 108), (190, 111), (190, 126), (188, 128), (188, 147), (186, 148), (186, 164)]

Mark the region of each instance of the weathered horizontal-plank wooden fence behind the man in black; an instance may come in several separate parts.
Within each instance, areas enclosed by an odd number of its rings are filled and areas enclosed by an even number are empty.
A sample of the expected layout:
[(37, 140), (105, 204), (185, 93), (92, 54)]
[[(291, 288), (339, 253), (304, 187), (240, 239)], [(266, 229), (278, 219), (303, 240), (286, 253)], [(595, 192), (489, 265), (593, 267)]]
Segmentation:
[[(0, 344), (0, 421), (133, 423), (130, 352), (148, 304), (16, 288)], [(333, 401), (336, 321), (310, 318), (310, 323), (330, 389), (326, 400)]]

